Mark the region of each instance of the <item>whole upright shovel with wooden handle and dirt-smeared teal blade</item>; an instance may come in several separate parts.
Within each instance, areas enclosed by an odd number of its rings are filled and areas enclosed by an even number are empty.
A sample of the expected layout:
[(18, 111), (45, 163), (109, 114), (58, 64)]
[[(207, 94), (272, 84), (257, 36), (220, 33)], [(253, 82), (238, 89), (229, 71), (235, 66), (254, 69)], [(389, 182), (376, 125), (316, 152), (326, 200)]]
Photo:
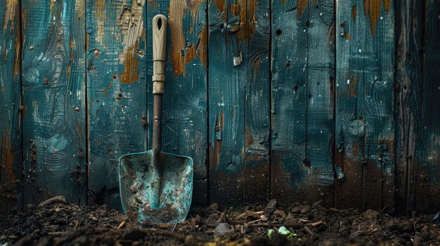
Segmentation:
[(167, 18), (153, 18), (153, 149), (119, 158), (122, 208), (140, 224), (176, 224), (190, 209), (193, 159), (161, 150)]

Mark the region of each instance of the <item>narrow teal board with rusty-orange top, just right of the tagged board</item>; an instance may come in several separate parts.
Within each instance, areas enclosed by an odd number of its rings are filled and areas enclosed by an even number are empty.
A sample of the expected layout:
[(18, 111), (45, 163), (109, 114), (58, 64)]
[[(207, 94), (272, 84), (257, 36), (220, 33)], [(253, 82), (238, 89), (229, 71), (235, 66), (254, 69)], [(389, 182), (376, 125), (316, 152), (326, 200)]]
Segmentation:
[(243, 200), (265, 202), (270, 188), (270, 41), (271, 1), (247, 1), (247, 29), (250, 32), (245, 83), (245, 163)]

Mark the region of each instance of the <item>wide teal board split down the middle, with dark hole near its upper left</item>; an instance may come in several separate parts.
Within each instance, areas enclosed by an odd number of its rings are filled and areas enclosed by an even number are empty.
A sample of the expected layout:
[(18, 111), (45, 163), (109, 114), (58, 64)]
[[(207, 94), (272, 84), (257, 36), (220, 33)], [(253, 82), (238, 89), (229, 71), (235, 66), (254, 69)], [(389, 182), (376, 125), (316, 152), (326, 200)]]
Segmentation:
[(302, 4), (273, 2), (271, 197), (332, 205), (333, 4)]

